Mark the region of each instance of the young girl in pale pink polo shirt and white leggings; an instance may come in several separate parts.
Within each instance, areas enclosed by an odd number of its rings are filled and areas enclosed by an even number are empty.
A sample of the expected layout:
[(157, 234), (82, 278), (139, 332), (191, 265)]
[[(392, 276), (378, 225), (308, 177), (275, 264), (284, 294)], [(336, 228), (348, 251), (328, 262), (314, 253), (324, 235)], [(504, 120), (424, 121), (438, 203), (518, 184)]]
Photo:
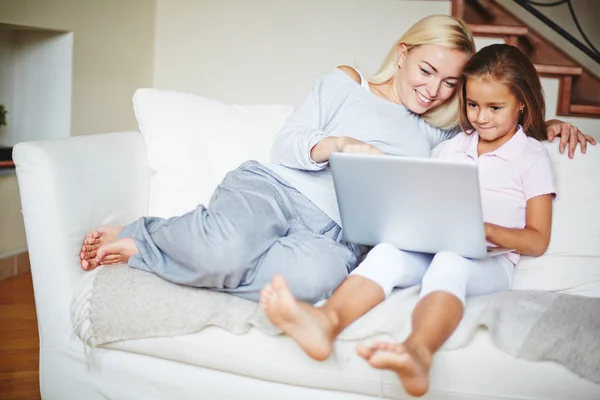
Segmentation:
[(544, 98), (533, 64), (516, 47), (485, 47), (465, 66), (458, 90), (464, 133), (445, 142), (439, 157), (477, 162), (486, 237), (516, 251), (475, 260), (380, 244), (322, 307), (298, 302), (280, 276), (260, 298), (275, 325), (324, 360), (335, 337), (394, 287), (421, 284), (413, 331), (402, 344), (358, 346), (373, 367), (394, 371), (416, 396), (428, 390), (432, 356), (460, 322), (465, 296), (509, 290), (519, 254), (539, 256), (550, 241), (555, 189), (538, 142), (545, 138)]

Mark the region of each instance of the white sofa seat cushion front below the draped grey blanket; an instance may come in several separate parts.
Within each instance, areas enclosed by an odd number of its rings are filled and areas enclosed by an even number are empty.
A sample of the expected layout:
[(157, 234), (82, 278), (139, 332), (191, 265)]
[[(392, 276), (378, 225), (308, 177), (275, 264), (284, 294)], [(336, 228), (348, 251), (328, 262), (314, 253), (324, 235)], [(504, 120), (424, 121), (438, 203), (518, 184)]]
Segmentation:
[[(381, 339), (390, 340), (387, 336)], [(392, 372), (371, 368), (358, 357), (355, 342), (338, 340), (334, 346), (333, 356), (318, 362), (304, 354), (289, 336), (274, 337), (257, 329), (236, 335), (208, 327), (192, 335), (129, 340), (106, 347), (150, 356), (149, 361), (163, 358), (265, 381), (343, 392), (346, 399), (365, 399), (355, 393), (386, 399), (413, 398), (404, 392)], [(427, 399), (431, 400), (583, 400), (600, 395), (600, 385), (557, 363), (526, 361), (497, 349), (483, 330), (465, 348), (438, 352), (430, 373)], [(327, 399), (328, 393), (306, 398)], [(264, 398), (295, 397), (273, 397), (265, 392)]]

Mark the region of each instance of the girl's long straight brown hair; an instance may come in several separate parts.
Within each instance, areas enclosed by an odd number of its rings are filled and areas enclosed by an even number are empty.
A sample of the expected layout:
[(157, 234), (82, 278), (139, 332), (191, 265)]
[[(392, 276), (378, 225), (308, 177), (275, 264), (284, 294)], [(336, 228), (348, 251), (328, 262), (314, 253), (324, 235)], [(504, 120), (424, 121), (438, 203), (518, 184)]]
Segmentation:
[(517, 47), (507, 44), (486, 46), (465, 65), (458, 90), (460, 126), (463, 131), (473, 130), (467, 118), (467, 79), (481, 77), (489, 77), (507, 85), (525, 105), (519, 116), (519, 124), (525, 134), (537, 140), (546, 140), (546, 105), (540, 78), (529, 58)]

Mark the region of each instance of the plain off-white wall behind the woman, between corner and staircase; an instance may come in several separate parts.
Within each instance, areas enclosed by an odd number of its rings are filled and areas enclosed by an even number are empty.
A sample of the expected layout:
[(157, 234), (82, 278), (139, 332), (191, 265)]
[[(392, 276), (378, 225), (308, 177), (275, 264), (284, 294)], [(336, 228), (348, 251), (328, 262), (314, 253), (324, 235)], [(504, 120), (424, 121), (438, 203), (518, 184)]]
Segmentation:
[(373, 73), (450, 1), (157, 0), (154, 86), (231, 103), (298, 104), (339, 64)]

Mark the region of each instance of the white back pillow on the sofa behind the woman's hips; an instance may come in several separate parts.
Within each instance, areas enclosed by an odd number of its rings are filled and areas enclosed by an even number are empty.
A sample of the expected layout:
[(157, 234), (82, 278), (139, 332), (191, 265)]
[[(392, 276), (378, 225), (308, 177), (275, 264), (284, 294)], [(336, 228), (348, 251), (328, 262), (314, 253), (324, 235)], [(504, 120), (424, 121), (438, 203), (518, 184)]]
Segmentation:
[(171, 217), (207, 204), (228, 171), (266, 162), (288, 105), (228, 105), (188, 93), (139, 89), (133, 96), (146, 142), (150, 215)]

